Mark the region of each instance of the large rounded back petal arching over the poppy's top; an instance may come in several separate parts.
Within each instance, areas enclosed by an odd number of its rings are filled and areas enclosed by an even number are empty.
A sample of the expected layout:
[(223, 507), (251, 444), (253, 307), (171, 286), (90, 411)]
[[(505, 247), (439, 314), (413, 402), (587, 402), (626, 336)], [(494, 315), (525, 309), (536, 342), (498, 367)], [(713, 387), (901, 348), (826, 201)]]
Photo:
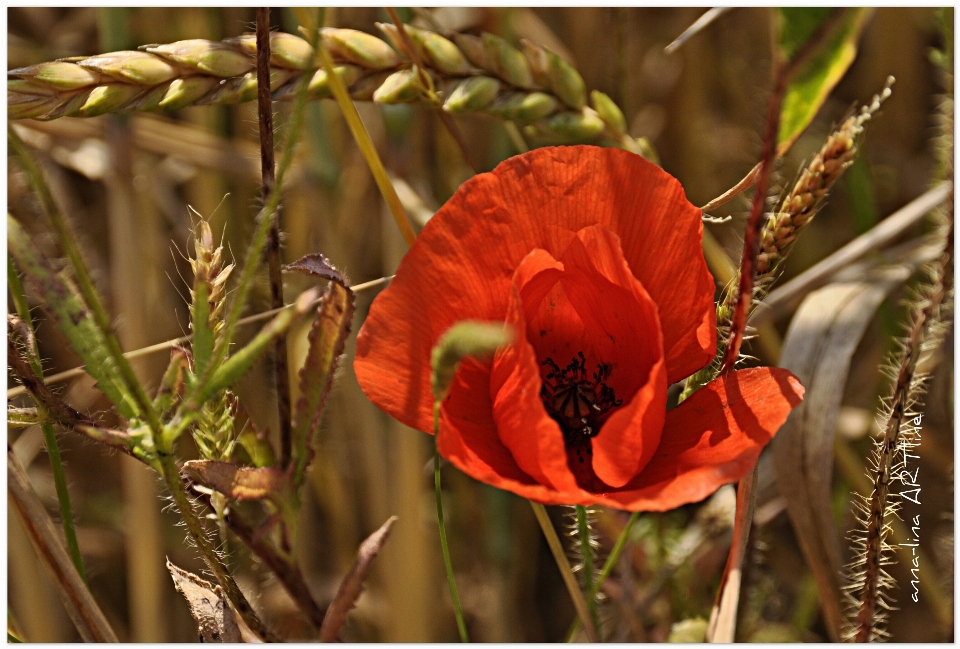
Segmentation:
[(357, 338), (363, 391), (430, 430), (430, 351), (440, 335), (459, 320), (502, 320), (523, 257), (536, 248), (559, 257), (576, 232), (598, 224), (620, 236), (659, 308), (668, 381), (709, 362), (714, 284), (699, 252), (699, 210), (680, 184), (619, 149), (548, 147), (470, 179), (430, 219)]

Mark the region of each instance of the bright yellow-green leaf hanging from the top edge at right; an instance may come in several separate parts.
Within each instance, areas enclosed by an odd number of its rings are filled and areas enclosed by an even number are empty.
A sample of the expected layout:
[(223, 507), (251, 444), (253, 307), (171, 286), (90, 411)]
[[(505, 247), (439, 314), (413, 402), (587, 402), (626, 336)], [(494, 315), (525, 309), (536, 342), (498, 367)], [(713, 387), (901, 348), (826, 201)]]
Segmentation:
[(862, 8), (777, 9), (778, 53), (785, 64), (796, 66), (780, 111), (778, 155), (786, 153), (810, 125), (853, 63), (869, 14)]

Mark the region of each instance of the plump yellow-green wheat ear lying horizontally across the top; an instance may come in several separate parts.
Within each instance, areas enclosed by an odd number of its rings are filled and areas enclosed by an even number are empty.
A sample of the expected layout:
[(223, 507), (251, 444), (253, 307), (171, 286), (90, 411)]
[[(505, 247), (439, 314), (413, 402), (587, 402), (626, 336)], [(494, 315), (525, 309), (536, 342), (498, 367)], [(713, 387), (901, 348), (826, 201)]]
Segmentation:
[[(588, 93), (579, 72), (549, 49), (522, 41), (521, 49), (493, 34), (438, 33), (405, 26), (426, 74), (403, 54), (396, 27), (378, 24), (394, 43), (352, 29), (321, 30), (335, 72), (350, 96), (384, 104), (427, 102), (449, 113), (483, 113), (516, 121), (528, 137), (547, 142), (607, 142), (641, 153), (626, 119), (605, 94)], [(274, 100), (296, 95), (299, 73), (317, 69), (312, 99), (331, 98), (327, 74), (306, 40), (270, 36)], [(191, 39), (144, 45), (139, 51), (74, 57), (10, 70), (11, 119), (51, 120), (126, 111), (172, 111), (187, 106), (256, 99), (256, 37)], [(589, 102), (588, 102), (589, 99)]]

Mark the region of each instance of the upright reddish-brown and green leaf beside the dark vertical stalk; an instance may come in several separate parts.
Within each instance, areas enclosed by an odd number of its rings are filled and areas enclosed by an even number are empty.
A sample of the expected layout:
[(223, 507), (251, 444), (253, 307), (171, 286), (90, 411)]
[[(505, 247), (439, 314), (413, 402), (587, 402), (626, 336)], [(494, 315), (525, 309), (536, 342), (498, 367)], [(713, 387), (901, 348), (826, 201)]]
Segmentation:
[(353, 320), (353, 291), (330, 282), (310, 330), (307, 360), (300, 369), (300, 398), (293, 424), (294, 484), (299, 484), (313, 456), (313, 438), (320, 426), (333, 375)]

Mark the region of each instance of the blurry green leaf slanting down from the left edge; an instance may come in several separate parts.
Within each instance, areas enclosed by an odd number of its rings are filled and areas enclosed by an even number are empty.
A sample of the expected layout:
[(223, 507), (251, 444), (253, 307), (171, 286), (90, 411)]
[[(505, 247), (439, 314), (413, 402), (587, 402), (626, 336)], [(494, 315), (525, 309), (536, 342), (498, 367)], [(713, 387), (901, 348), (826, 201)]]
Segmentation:
[(86, 372), (126, 419), (140, 413), (127, 390), (119, 368), (107, 350), (106, 341), (77, 290), (54, 270), (34, 248), (15, 219), (7, 216), (7, 245), (27, 283), (57, 323), (70, 348), (83, 359)]

